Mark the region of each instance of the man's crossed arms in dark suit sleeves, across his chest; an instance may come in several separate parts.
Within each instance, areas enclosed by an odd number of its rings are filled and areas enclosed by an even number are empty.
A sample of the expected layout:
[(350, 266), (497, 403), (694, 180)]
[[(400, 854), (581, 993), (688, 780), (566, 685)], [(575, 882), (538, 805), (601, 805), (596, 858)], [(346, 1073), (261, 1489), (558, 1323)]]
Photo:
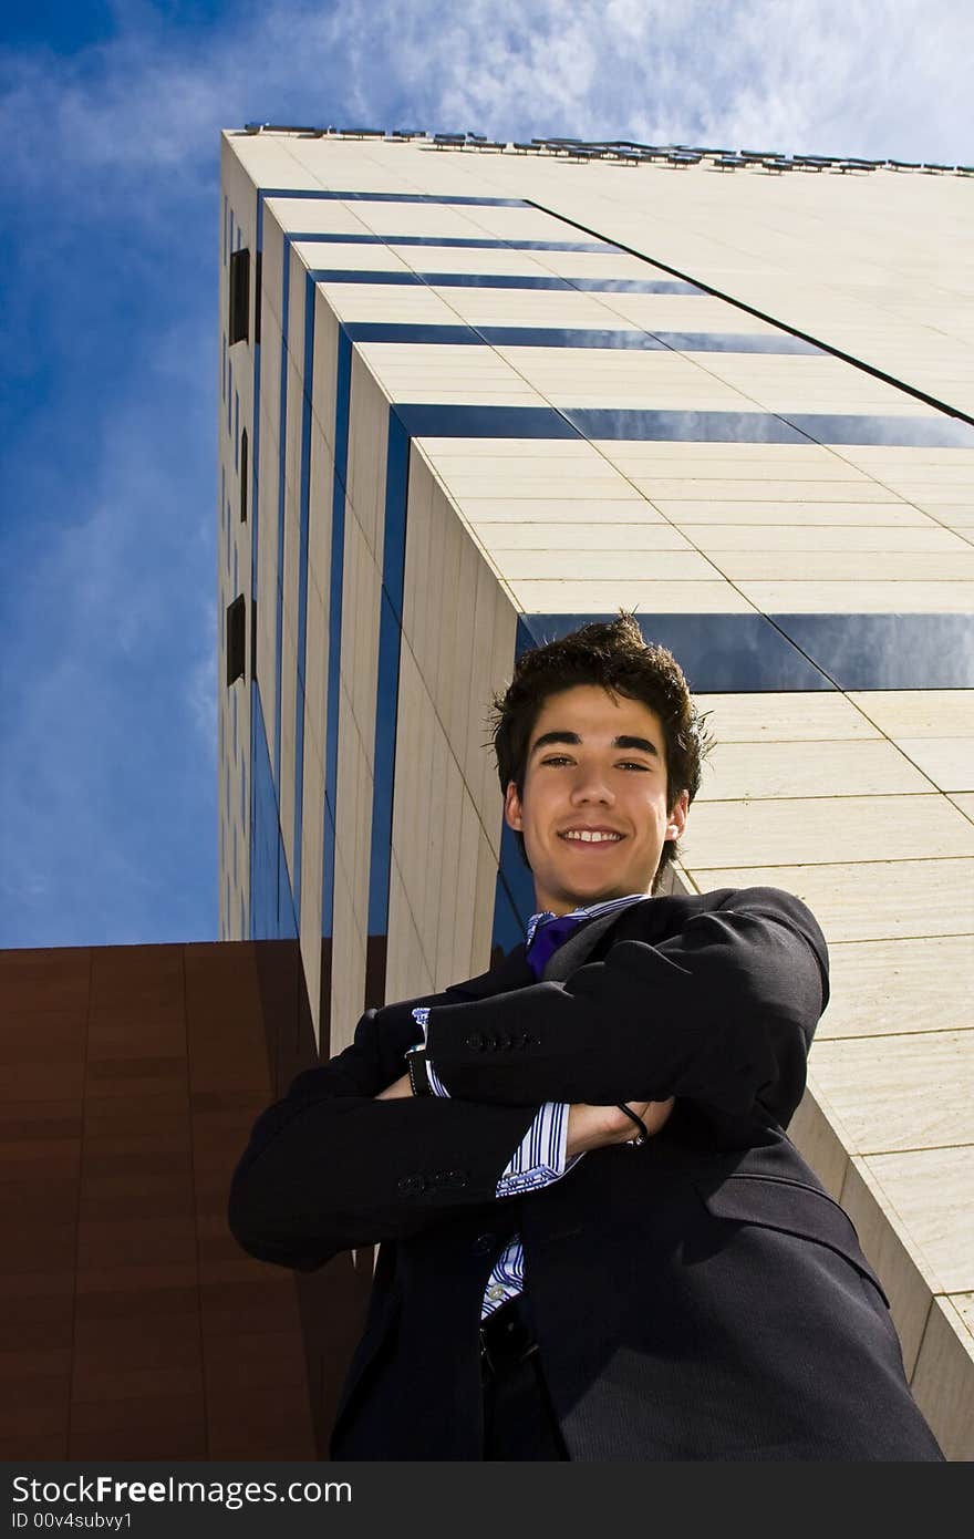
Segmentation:
[(612, 945), (565, 983), (426, 1000), (443, 1099), (402, 1093), (420, 1034), (409, 1008), (368, 1011), (352, 1047), (257, 1119), (231, 1188), (238, 1242), (305, 1270), (499, 1200), (546, 1100), (571, 1107), (569, 1153), (631, 1137), (622, 1100), (646, 1105), (654, 1128), (674, 1097), (786, 1125), (826, 997), (825, 943), (788, 894), (729, 897), (660, 945)]

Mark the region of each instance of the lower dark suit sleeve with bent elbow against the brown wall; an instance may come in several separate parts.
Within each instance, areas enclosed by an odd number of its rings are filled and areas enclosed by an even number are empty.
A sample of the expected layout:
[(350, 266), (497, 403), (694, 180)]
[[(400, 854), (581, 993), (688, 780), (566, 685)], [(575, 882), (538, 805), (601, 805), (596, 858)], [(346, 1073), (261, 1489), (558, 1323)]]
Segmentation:
[(345, 1053), (299, 1074), (254, 1123), (228, 1213), (251, 1256), (311, 1271), (342, 1250), (495, 1200), (537, 1108), (375, 1100), (403, 1073), (402, 1054), (417, 1037), (402, 1014), (368, 1011)]

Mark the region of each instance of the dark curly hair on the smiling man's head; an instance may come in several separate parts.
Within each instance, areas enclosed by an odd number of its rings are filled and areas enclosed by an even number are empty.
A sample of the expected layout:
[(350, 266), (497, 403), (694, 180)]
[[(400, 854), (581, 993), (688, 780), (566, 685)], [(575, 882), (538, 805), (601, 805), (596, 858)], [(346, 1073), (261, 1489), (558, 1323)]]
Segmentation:
[[(672, 653), (646, 643), (639, 622), (625, 609), (617, 620), (592, 620), (517, 659), (511, 683), (491, 699), (491, 739), (502, 794), (514, 780), (519, 797), (523, 796), (531, 733), (548, 697), (586, 683), (602, 685), (612, 697), (642, 700), (655, 711), (666, 745), (666, 810), (672, 811), (682, 791), (688, 791), (692, 802), (714, 739)], [(515, 833), (514, 837), (529, 865), (523, 836)], [(677, 840), (668, 839), (652, 879), (654, 893), (677, 854)]]

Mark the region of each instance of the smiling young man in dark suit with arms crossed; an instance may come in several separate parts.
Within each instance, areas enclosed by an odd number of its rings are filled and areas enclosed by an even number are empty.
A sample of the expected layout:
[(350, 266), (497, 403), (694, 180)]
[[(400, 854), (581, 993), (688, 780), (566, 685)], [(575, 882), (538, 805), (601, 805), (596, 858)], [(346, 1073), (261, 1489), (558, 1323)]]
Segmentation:
[(315, 1268), (382, 1242), (337, 1459), (937, 1461), (880, 1284), (788, 1140), (828, 999), (774, 888), (649, 896), (706, 734), (637, 623), (495, 699), (525, 945), (255, 1123), (231, 1227)]

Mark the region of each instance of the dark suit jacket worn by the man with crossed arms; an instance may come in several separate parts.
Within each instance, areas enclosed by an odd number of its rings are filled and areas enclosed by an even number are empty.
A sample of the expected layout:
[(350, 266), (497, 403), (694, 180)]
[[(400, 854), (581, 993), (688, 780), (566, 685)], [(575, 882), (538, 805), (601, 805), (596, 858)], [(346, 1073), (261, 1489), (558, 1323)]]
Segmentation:
[[(934, 1461), (883, 1290), (785, 1136), (828, 1000), (822, 933), (774, 888), (583, 922), (535, 982), (515, 948), (354, 1045), (257, 1120), (229, 1219), (315, 1268), (382, 1242), (332, 1456), (480, 1459), (479, 1320), (514, 1231), (572, 1459)], [(372, 1097), (428, 1050), (451, 1099)], [(675, 1108), (520, 1197), (495, 1183), (543, 1100)]]

